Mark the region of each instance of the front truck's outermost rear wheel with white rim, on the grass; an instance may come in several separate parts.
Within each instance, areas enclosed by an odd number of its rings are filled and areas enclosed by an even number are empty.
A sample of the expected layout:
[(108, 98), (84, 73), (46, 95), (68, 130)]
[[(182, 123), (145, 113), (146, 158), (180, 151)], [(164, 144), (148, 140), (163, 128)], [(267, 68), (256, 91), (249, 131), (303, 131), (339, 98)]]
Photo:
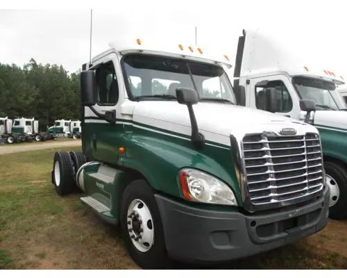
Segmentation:
[[(53, 159), (53, 184), (60, 196), (74, 191), (74, 168), (68, 152), (56, 152)], [(76, 186), (76, 185), (75, 185)]]

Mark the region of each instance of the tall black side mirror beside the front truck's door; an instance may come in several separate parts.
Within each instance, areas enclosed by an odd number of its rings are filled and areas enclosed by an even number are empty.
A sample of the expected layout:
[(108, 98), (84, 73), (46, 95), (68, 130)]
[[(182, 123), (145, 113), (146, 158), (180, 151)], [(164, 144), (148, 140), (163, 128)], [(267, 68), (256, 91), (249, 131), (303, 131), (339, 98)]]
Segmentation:
[(84, 106), (96, 104), (96, 80), (92, 70), (81, 72), (81, 104)]

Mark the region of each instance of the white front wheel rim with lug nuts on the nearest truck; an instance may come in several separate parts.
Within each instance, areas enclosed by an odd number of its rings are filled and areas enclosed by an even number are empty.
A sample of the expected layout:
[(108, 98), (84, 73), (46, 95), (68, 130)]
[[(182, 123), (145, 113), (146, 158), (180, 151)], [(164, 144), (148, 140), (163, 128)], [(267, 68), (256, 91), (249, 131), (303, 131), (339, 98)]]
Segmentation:
[(140, 252), (147, 252), (153, 245), (154, 229), (149, 208), (139, 199), (128, 206), (128, 233), (133, 245)]

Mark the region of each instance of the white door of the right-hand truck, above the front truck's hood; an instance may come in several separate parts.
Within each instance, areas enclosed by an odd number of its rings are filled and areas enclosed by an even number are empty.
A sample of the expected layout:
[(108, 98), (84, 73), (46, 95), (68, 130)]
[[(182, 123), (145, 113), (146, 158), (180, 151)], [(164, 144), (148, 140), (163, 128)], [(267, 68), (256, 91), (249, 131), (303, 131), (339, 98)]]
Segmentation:
[(248, 106), (266, 110), (265, 90), (276, 88), (277, 111), (276, 114), (299, 120), (300, 105), (293, 85), (285, 75), (264, 76), (251, 79), (248, 84)]

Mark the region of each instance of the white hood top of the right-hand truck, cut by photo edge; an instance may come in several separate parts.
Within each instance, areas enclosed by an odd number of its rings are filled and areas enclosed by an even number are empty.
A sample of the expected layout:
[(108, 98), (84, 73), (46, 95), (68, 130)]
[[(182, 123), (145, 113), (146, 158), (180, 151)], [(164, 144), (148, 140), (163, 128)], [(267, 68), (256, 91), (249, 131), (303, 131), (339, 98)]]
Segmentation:
[(330, 128), (345, 129), (347, 131), (347, 111), (316, 111), (314, 125)]

